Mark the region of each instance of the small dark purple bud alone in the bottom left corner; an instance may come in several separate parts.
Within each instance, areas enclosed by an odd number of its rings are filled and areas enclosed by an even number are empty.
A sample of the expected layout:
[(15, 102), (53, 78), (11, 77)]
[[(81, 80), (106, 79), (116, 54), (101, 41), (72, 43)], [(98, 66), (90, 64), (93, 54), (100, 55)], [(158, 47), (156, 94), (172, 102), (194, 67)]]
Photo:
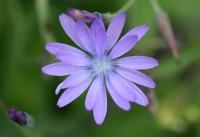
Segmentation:
[(15, 108), (11, 108), (8, 110), (8, 116), (13, 122), (21, 126), (29, 125), (32, 119), (28, 113), (17, 110)]

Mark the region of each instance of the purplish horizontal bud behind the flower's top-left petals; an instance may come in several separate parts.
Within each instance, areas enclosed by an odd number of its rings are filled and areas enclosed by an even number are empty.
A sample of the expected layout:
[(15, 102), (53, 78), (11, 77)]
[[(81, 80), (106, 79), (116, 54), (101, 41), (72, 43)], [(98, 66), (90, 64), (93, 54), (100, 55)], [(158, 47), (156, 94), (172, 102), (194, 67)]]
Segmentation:
[(75, 8), (69, 8), (65, 14), (73, 18), (74, 20), (81, 20), (85, 23), (91, 23), (96, 18), (101, 18), (100, 13), (91, 13), (85, 10), (79, 10)]

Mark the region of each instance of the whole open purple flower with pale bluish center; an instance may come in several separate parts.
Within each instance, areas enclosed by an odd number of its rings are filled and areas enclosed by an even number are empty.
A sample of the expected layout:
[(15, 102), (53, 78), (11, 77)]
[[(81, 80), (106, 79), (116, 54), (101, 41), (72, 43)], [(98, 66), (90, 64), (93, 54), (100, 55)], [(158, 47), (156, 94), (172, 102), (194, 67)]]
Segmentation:
[(147, 97), (136, 84), (155, 88), (155, 83), (138, 70), (158, 66), (157, 60), (146, 56), (119, 58), (143, 37), (147, 25), (132, 29), (118, 40), (125, 22), (124, 13), (112, 19), (107, 31), (100, 18), (90, 27), (66, 14), (61, 14), (59, 19), (67, 35), (82, 49), (63, 43), (46, 44), (46, 49), (60, 61), (43, 67), (42, 71), (53, 76), (68, 76), (56, 88), (56, 94), (65, 89), (58, 100), (59, 107), (68, 105), (88, 89), (85, 107), (93, 111), (96, 123), (101, 125), (107, 112), (106, 90), (125, 111), (130, 110), (130, 102), (148, 105)]

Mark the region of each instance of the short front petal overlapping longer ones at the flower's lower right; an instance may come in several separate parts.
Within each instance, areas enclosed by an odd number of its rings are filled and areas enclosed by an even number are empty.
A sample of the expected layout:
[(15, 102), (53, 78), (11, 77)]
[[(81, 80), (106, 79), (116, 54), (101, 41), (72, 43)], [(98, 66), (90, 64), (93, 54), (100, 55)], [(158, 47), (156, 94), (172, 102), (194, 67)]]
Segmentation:
[(126, 80), (120, 75), (109, 72), (108, 78), (110, 83), (113, 85), (113, 88), (126, 100), (134, 102), (135, 94), (130, 90), (130, 85), (127, 84)]

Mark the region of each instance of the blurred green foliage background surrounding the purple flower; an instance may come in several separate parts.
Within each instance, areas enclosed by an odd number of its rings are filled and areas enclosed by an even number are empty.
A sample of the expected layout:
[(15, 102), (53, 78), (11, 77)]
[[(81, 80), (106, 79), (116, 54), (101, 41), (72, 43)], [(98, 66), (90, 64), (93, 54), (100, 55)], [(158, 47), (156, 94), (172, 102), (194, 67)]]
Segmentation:
[[(58, 109), (54, 90), (63, 78), (41, 73), (55, 61), (47, 41), (74, 45), (58, 15), (69, 7), (115, 12), (126, 0), (0, 0), (0, 137), (199, 137), (200, 136), (200, 1), (159, 0), (168, 13), (180, 49), (177, 64), (163, 42), (149, 0), (136, 0), (127, 12), (124, 32), (149, 24), (150, 31), (129, 54), (156, 57), (160, 66), (148, 71), (153, 103), (133, 105), (130, 112), (110, 100), (102, 126), (84, 108), (85, 94)], [(155, 93), (155, 94), (154, 94)], [(154, 96), (156, 96), (154, 98)], [(32, 128), (14, 124), (6, 108), (18, 108), (35, 119)]]

